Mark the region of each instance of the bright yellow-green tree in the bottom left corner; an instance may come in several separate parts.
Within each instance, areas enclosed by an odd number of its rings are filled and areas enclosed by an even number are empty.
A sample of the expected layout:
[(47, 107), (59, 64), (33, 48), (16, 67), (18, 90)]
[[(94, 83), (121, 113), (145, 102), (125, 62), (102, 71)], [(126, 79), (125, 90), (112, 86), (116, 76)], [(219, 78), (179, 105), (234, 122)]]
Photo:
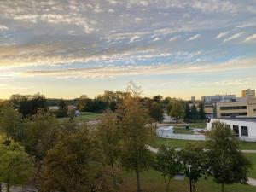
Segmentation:
[[(16, 184), (24, 184), (32, 177), (33, 160), (20, 143), (0, 136), (0, 182), (6, 183), (7, 192)], [(1, 185), (1, 184), (0, 184)], [(1, 191), (1, 186), (0, 186)]]

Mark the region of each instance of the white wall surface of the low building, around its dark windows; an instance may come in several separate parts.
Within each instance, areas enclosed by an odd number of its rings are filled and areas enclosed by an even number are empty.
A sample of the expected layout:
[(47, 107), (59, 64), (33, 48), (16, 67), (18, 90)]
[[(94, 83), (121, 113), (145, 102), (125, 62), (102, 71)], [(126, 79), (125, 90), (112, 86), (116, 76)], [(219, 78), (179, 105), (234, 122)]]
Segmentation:
[[(220, 121), (226, 125), (230, 125), (230, 128), (233, 130), (233, 125), (237, 125), (239, 127), (239, 139), (242, 141), (250, 141), (256, 142), (256, 121), (245, 121), (245, 120), (232, 120), (232, 119), (211, 119), (209, 123), (207, 123), (207, 130), (212, 130), (212, 123)], [(241, 126), (247, 126), (248, 128), (248, 136), (241, 136)]]

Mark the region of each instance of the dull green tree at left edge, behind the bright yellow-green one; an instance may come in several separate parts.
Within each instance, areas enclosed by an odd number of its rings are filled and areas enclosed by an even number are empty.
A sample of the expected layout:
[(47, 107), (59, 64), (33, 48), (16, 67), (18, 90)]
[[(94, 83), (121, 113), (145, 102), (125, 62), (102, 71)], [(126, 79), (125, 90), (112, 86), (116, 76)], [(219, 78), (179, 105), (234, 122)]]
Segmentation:
[(0, 131), (15, 141), (24, 138), (24, 126), (21, 114), (10, 103), (6, 103), (0, 110)]

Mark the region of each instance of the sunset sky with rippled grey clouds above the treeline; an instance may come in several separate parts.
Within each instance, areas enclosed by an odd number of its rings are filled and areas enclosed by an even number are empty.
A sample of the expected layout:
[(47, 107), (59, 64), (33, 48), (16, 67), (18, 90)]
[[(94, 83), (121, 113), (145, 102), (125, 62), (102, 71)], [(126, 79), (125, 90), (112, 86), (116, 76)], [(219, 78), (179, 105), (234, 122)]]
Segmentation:
[(256, 89), (255, 0), (0, 0), (0, 98)]

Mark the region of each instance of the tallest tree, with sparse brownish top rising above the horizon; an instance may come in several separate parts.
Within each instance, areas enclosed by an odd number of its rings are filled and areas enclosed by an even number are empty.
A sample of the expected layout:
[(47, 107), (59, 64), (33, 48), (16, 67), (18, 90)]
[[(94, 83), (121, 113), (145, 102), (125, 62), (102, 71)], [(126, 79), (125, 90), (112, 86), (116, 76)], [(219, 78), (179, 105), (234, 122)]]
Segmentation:
[(140, 172), (147, 169), (152, 159), (146, 148), (148, 131), (145, 127), (148, 111), (140, 100), (141, 89), (136, 84), (129, 84), (127, 96), (119, 106), (119, 126), (123, 131), (122, 162), (128, 170), (134, 171), (137, 178), (137, 192), (141, 191)]

